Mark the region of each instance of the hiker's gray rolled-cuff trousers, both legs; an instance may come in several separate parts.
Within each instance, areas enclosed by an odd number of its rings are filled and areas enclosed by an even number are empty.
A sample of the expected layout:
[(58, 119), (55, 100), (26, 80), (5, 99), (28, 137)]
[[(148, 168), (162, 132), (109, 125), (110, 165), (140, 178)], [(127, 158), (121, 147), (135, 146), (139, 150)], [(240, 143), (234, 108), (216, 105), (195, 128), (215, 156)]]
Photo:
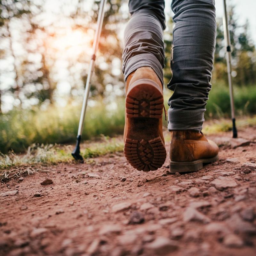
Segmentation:
[[(216, 42), (214, 0), (172, 0), (174, 12), (171, 69), (167, 87), (168, 130), (200, 132), (211, 90)], [(164, 0), (130, 0), (132, 17), (124, 32), (123, 73), (151, 67), (163, 83)]]

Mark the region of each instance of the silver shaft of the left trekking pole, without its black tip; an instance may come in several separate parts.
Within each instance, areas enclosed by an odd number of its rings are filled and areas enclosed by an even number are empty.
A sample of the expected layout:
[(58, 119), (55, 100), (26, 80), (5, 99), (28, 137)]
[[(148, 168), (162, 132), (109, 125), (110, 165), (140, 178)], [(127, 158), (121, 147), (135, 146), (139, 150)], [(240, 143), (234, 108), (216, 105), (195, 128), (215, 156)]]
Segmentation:
[(85, 111), (86, 111), (88, 97), (89, 97), (90, 89), (91, 89), (90, 82), (91, 82), (91, 77), (92, 77), (92, 73), (93, 73), (93, 69), (94, 69), (95, 55), (96, 55), (96, 53), (98, 51), (98, 47), (99, 47), (100, 33), (101, 33), (103, 19), (104, 19), (104, 13), (105, 13), (104, 8), (106, 5), (106, 2), (107, 2), (107, 0), (101, 0), (101, 2), (100, 2), (100, 9), (99, 9), (99, 15), (98, 15), (98, 20), (97, 20), (97, 29), (95, 31), (94, 41), (93, 41), (93, 46), (92, 46), (93, 54), (92, 54), (92, 59), (90, 61), (88, 76), (87, 76), (86, 84), (85, 84), (84, 100), (83, 100), (83, 106), (82, 106), (81, 116), (80, 116), (80, 120), (79, 120), (77, 136), (82, 135), (82, 131), (83, 131), (83, 127), (84, 127)]

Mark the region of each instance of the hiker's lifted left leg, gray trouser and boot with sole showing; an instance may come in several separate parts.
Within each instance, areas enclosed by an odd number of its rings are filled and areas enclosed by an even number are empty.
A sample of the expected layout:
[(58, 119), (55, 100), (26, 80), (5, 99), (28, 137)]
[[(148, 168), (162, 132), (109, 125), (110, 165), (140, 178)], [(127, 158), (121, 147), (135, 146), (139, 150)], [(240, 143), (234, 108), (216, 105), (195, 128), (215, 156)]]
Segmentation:
[(137, 170), (160, 168), (166, 158), (162, 130), (164, 0), (130, 0), (124, 32), (126, 81), (124, 155)]

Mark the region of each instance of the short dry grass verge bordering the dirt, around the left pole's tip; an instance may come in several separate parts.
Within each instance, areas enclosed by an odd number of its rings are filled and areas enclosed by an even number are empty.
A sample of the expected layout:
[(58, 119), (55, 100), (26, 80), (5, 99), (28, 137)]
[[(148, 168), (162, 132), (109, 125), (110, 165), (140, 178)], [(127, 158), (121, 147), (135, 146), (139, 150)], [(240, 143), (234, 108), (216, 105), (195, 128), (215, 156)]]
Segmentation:
[[(81, 145), (81, 155), (85, 160), (97, 156), (104, 156), (116, 152), (123, 152), (124, 143), (122, 138), (102, 137), (100, 142), (90, 142)], [(37, 165), (52, 165), (59, 163), (74, 162), (71, 156), (73, 146), (60, 145), (32, 145), (26, 154), (8, 155), (0, 154), (0, 180), (6, 180), (13, 176), (19, 177), (22, 174), (32, 174), (38, 170)]]

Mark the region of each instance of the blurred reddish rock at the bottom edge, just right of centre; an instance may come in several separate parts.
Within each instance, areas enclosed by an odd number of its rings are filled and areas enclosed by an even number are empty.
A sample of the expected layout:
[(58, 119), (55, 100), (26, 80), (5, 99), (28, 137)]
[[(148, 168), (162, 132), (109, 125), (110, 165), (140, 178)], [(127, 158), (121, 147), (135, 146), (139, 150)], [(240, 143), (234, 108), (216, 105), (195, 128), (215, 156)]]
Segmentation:
[(159, 236), (155, 241), (146, 244), (146, 249), (152, 250), (154, 255), (166, 255), (178, 249), (178, 244), (164, 236)]

